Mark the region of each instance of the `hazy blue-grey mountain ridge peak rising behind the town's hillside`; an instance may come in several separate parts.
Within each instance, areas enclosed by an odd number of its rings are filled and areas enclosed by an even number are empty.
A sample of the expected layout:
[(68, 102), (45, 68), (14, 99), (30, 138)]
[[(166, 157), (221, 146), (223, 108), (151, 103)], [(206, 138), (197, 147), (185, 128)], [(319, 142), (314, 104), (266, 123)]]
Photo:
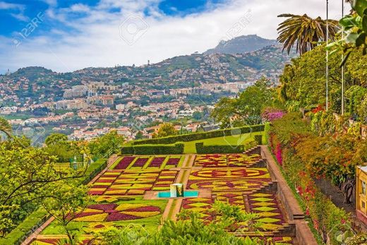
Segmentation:
[(258, 35), (234, 37), (221, 41), (214, 49), (207, 49), (203, 54), (243, 54), (277, 44), (277, 40), (267, 40)]

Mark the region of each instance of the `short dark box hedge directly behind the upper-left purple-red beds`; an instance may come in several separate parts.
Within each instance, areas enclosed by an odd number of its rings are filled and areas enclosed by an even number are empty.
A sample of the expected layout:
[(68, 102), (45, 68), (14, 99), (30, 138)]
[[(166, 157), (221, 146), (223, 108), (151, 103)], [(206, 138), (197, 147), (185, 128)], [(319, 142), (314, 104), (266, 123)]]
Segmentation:
[(183, 143), (175, 145), (133, 145), (121, 148), (123, 155), (165, 155), (183, 154)]

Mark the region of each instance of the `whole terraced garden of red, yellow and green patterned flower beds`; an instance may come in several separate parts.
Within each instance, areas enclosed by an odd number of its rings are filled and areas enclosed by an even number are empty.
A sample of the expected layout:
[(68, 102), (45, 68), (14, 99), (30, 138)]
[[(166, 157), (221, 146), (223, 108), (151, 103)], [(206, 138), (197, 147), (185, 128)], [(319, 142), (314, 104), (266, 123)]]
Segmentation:
[[(168, 191), (174, 183), (198, 190), (199, 196), (157, 198), (158, 191)], [(274, 244), (292, 244), (294, 237), (284, 235), (289, 225), (282, 205), (275, 193), (265, 191), (271, 184), (263, 160), (255, 153), (124, 156), (90, 183), (93, 201), (71, 224), (80, 243), (86, 244), (94, 232), (107, 227), (134, 223), (157, 229), (162, 220), (175, 220), (180, 210), (193, 210), (201, 218), (211, 219), (207, 210), (217, 200), (258, 214), (261, 234), (246, 231), (246, 224), (237, 224), (239, 237), (255, 236), (270, 239)], [(57, 244), (64, 237), (54, 221), (33, 244)]]

